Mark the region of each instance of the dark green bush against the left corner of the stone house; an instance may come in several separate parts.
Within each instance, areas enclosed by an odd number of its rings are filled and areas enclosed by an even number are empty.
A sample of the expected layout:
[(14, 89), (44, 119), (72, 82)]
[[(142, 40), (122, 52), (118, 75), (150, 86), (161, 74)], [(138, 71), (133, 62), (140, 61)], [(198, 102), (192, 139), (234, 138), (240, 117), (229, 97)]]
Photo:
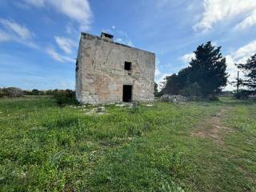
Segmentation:
[(73, 90), (54, 91), (54, 98), (60, 106), (67, 104), (78, 104), (78, 101), (75, 98), (75, 92)]

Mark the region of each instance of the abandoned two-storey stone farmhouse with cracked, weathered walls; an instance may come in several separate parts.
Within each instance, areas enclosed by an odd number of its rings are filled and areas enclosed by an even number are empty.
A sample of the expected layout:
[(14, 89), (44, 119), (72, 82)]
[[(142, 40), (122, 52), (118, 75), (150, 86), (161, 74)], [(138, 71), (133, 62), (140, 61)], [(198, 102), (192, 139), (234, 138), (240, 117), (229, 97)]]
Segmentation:
[(76, 97), (100, 104), (154, 100), (155, 54), (82, 33), (76, 62)]

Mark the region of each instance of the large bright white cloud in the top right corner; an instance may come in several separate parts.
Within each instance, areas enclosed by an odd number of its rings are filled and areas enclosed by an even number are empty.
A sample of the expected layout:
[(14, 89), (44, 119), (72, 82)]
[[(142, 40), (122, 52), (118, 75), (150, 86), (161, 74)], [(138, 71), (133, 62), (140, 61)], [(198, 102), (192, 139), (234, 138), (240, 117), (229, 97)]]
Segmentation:
[[(194, 25), (194, 30), (210, 30), (217, 22), (230, 20), (243, 14), (253, 14), (255, 0), (204, 0), (204, 12), (201, 20)], [(247, 21), (248, 22), (248, 21)], [(251, 23), (251, 22), (250, 22)]]

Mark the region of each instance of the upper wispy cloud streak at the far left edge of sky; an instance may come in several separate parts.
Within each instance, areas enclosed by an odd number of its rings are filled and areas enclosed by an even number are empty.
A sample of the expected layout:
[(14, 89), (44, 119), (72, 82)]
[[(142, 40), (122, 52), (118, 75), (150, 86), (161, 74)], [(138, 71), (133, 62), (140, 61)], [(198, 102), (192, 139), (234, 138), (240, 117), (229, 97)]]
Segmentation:
[(5, 26), (7, 30), (11, 30), (15, 34), (18, 34), (18, 36), (23, 40), (32, 38), (32, 33), (30, 32), (30, 30), (28, 30), (25, 26), (18, 24), (17, 22), (9, 19), (0, 18), (0, 23), (2, 24), (2, 26)]

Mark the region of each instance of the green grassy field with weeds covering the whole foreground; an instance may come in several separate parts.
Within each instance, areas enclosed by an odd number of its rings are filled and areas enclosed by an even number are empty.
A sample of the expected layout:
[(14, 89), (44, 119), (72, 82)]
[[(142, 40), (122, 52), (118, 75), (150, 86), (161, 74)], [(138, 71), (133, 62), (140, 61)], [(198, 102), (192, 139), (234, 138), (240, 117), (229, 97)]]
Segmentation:
[(1, 191), (256, 191), (256, 102), (0, 100)]

